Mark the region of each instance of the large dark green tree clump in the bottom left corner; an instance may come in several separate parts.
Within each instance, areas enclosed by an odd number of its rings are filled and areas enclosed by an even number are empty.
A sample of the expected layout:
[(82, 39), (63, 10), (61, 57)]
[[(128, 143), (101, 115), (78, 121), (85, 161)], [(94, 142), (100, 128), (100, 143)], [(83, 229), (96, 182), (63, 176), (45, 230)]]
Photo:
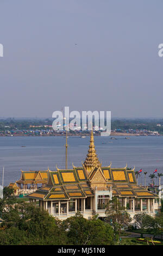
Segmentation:
[[(66, 245), (60, 221), (33, 204), (17, 203), (3, 211), (1, 245)], [(12, 239), (11, 234), (15, 235)], [(12, 236), (13, 236), (12, 234)], [(22, 236), (22, 239), (21, 239)]]

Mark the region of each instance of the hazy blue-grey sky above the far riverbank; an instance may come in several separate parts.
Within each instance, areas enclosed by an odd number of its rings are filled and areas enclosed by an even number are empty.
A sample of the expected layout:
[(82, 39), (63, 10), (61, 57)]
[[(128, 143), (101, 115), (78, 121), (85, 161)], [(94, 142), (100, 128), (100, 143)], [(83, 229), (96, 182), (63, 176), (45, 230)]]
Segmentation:
[[(162, 117), (162, 0), (0, 0), (0, 116)], [(76, 45), (77, 44), (77, 45)]]

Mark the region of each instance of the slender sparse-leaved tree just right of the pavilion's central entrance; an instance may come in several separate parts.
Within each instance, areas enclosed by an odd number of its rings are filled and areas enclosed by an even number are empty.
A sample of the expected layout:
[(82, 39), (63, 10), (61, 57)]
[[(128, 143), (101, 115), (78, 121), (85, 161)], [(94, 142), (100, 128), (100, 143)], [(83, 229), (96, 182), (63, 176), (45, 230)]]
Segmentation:
[(117, 197), (113, 197), (111, 200), (109, 200), (106, 207), (105, 220), (112, 225), (114, 234), (120, 235), (122, 228), (128, 226), (128, 224), (131, 222), (131, 217), (121, 205)]

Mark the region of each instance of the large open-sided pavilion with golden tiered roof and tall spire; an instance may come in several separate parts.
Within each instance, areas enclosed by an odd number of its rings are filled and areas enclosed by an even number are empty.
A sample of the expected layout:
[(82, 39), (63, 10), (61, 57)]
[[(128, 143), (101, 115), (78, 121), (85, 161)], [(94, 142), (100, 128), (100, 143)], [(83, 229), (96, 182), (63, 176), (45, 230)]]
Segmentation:
[(85, 218), (95, 214), (105, 217), (105, 206), (116, 196), (133, 217), (138, 212), (154, 215), (158, 196), (136, 184), (134, 169), (111, 168), (99, 162), (93, 132), (82, 167), (48, 170), (46, 186), (28, 195), (30, 202), (39, 200), (40, 208), (61, 220), (80, 211)]

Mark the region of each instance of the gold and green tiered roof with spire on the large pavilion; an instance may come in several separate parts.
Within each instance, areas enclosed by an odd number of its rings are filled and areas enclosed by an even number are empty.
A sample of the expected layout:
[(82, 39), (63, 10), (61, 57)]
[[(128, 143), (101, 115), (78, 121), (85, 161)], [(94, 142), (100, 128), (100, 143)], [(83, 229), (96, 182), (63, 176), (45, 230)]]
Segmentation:
[(48, 170), (47, 186), (29, 194), (28, 197), (40, 200), (69, 200), (93, 196), (95, 190), (112, 190), (113, 196), (118, 197), (158, 197), (136, 184), (134, 168), (111, 168), (111, 164), (102, 167), (96, 155), (93, 132), (83, 167)]

